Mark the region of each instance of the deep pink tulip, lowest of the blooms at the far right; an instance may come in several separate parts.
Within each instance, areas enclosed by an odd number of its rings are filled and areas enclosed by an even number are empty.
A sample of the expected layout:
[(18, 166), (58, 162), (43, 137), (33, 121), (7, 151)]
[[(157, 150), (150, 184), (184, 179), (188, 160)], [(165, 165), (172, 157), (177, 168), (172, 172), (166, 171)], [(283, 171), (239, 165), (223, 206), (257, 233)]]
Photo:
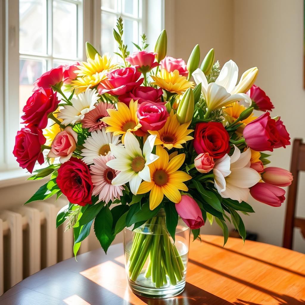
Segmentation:
[(285, 190), (265, 182), (259, 182), (250, 188), (250, 194), (257, 201), (269, 206), (281, 206), (285, 200)]

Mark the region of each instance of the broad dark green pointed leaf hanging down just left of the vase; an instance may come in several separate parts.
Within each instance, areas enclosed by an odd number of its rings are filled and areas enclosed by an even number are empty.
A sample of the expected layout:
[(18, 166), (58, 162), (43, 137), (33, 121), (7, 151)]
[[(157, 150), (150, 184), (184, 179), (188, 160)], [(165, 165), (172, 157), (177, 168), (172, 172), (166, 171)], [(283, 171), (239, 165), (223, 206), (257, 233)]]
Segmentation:
[(112, 222), (112, 214), (109, 207), (106, 205), (100, 210), (94, 221), (95, 236), (99, 240), (105, 253), (107, 253), (107, 250), (115, 237), (115, 235), (111, 233)]

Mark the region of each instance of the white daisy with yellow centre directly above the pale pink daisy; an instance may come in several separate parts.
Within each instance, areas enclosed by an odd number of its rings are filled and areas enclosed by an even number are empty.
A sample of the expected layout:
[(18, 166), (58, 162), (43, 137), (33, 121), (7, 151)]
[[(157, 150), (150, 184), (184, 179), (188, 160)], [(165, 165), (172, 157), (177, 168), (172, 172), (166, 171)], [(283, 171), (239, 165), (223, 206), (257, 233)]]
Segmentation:
[(85, 148), (81, 150), (82, 160), (86, 164), (92, 164), (94, 158), (108, 155), (110, 152), (110, 143), (113, 146), (120, 146), (122, 145), (120, 142), (118, 135), (106, 133), (104, 127), (101, 130), (93, 131), (91, 132), (91, 136), (83, 144)]

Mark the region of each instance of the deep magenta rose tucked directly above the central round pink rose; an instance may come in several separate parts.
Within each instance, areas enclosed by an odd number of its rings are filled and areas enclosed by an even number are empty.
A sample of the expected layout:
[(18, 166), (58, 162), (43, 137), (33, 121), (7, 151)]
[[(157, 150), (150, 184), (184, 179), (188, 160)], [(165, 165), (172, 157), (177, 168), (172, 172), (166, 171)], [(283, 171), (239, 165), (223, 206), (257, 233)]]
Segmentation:
[(163, 95), (163, 91), (161, 88), (155, 89), (152, 87), (135, 87), (131, 92), (128, 92), (124, 95), (119, 96), (119, 101), (125, 103), (129, 106), (129, 102), (131, 99), (134, 101), (138, 101), (138, 105), (142, 104), (143, 102), (151, 102), (151, 103), (160, 103), (161, 96)]

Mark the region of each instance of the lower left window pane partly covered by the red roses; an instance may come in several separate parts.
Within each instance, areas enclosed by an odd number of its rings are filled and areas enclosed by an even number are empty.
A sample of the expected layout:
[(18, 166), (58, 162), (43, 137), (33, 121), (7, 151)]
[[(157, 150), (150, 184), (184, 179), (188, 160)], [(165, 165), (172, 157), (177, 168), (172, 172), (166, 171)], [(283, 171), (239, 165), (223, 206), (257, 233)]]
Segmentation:
[(21, 59), (19, 60), (19, 113), (32, 95), (33, 83), (45, 72), (45, 60)]

